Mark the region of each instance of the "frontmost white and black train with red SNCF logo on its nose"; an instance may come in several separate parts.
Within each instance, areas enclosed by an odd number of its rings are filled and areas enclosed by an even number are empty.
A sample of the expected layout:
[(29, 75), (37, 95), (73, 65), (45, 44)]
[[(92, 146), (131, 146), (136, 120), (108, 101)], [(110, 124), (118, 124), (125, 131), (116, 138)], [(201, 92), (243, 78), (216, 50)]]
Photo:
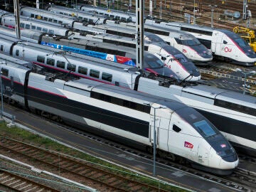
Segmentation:
[(9, 65), (0, 68), (6, 97), (32, 112), (149, 151), (156, 128), (158, 154), (182, 157), (214, 174), (231, 174), (238, 166), (238, 156), (223, 134), (180, 102), (92, 80), (58, 79)]

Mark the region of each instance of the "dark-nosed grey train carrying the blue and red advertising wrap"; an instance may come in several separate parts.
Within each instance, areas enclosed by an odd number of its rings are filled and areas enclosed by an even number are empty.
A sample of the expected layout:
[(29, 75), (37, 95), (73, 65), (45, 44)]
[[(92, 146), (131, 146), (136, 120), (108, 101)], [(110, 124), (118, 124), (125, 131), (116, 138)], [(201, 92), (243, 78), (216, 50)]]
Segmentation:
[[(2, 42), (5, 42), (6, 45), (11, 45), (11, 44), (15, 44), (14, 42), (18, 42), (19, 40), (15, 37), (15, 33), (13, 30), (11, 30), (10, 28), (4, 28), (4, 27), (0, 27), (1, 31), (0, 31), (0, 37), (2, 38)], [(32, 39), (33, 38), (33, 39)], [(100, 42), (90, 42), (90, 41), (83, 41), (83, 40), (67, 40), (65, 41), (65, 39), (63, 41), (61, 41), (61, 39), (59, 39), (58, 41), (55, 41), (53, 38), (50, 38), (49, 36), (45, 36), (42, 33), (38, 33), (36, 31), (26, 31), (23, 30), (21, 31), (21, 39), (23, 39), (24, 41), (27, 42), (18, 42), (19, 44), (21, 44), (22, 46), (26, 46), (26, 44), (28, 45), (28, 42), (31, 42), (31, 44), (29, 44), (29, 46), (34, 46), (35, 50), (45, 50), (46, 53), (48, 53), (49, 51), (51, 51), (52, 53), (54, 52), (58, 52), (58, 51), (67, 51), (67, 52), (73, 52), (73, 53), (79, 53), (82, 55), (87, 55), (88, 57), (85, 56), (85, 60), (88, 60), (89, 62), (92, 61), (97, 61), (98, 63), (105, 63), (106, 65), (108, 64), (112, 64), (114, 66), (118, 65), (117, 63), (119, 63), (119, 68), (123, 68), (124, 69), (124, 65), (128, 65), (125, 66), (126, 69), (129, 68), (133, 68), (136, 66), (136, 55), (134, 53), (134, 50), (131, 48), (126, 48), (126, 47), (122, 47), (122, 46), (117, 46), (117, 47), (112, 47), (110, 48), (112, 45), (111, 44), (104, 44), (104, 43), (100, 43)], [(39, 45), (43, 45), (43, 46), (50, 46), (52, 48), (48, 49), (42, 46), (36, 46), (36, 44)], [(58, 43), (58, 44), (57, 44)], [(61, 43), (61, 45), (60, 45)], [(80, 44), (80, 43), (85, 43)], [(76, 48), (75, 45), (78, 45)], [(53, 48), (58, 48), (60, 50), (55, 50)], [(87, 48), (87, 50), (82, 49), (82, 48)], [(102, 49), (103, 48), (108, 48), (108, 50), (110, 50), (110, 54), (107, 53), (102, 53)], [(7, 50), (8, 51), (8, 50)], [(113, 53), (115, 53), (116, 55), (113, 55)], [(119, 55), (118, 55), (119, 54)], [(82, 57), (82, 55), (80, 55)], [(77, 55), (79, 56), (79, 55)], [(97, 58), (96, 60), (94, 60), (93, 58)], [(33, 60), (33, 59), (29, 59), (29, 57), (27, 57), (26, 59), (28, 60)], [(36, 62), (35, 60), (33, 60), (34, 62)], [(110, 61), (114, 61), (114, 62), (110, 62)], [(79, 63), (81, 65), (81, 63)], [(44, 65), (43, 63), (41, 63), (40, 65)], [(82, 66), (82, 65), (81, 65)], [(47, 67), (49, 68), (49, 66), (47, 65)], [(51, 67), (52, 68), (52, 67)], [(63, 70), (61, 68), (55, 68), (56, 70)], [(176, 80), (184, 80), (185, 78), (187, 78), (187, 74), (183, 74), (183, 76), (181, 76), (181, 74), (176, 75), (176, 73), (174, 73), (174, 71), (170, 70), (169, 68), (164, 67), (164, 64), (162, 63), (161, 60), (159, 60), (159, 58), (157, 58), (155, 55), (152, 55), (151, 53), (144, 53), (144, 70), (148, 71), (149, 73), (153, 73), (154, 75), (166, 75), (170, 78), (174, 78)], [(197, 70), (197, 69), (196, 69)], [(193, 73), (193, 71), (191, 70), (191, 73)], [(81, 74), (80, 74), (81, 75)], [(184, 76), (186, 75), (186, 76)], [(181, 79), (180, 79), (181, 78)], [(199, 79), (201, 78), (201, 75), (199, 74)], [(186, 80), (194, 80), (193, 78), (187, 78)]]

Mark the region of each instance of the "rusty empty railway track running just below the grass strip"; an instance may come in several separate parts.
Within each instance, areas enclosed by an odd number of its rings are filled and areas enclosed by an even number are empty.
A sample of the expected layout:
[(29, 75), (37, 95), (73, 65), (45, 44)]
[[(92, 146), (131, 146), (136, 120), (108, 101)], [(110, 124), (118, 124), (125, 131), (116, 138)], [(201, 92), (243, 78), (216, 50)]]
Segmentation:
[(13, 153), (18, 156), (24, 156), (27, 159), (40, 162), (41, 165), (51, 167), (60, 171), (60, 174), (73, 174), (78, 178), (97, 182), (105, 188), (112, 191), (163, 191), (146, 183), (135, 181), (132, 176), (122, 176), (118, 172), (108, 171), (102, 166), (91, 164), (81, 159), (75, 159), (72, 156), (59, 154), (55, 151), (48, 151), (40, 147), (32, 146), (23, 142), (1, 136), (1, 152)]

